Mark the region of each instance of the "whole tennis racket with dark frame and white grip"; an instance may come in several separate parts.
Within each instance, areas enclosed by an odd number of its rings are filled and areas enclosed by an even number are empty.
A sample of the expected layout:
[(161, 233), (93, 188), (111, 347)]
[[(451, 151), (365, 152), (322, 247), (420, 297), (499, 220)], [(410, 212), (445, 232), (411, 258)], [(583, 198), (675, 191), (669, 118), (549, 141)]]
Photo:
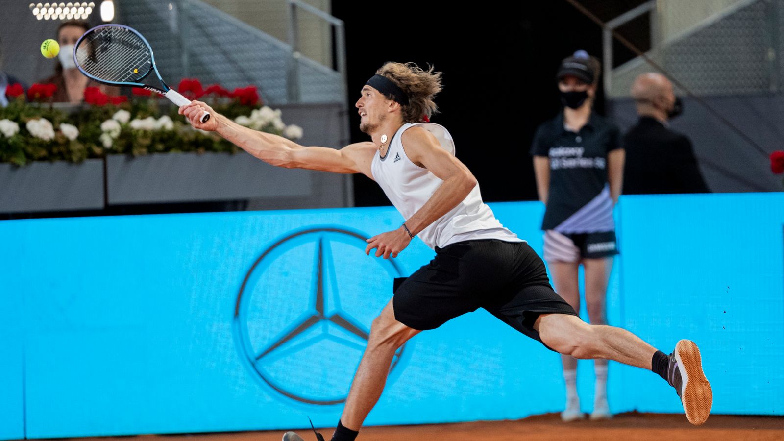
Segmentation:
[[(86, 31), (76, 42), (74, 61), (82, 74), (97, 82), (109, 86), (143, 87), (162, 94), (178, 106), (191, 103), (163, 82), (158, 67), (155, 67), (150, 43), (132, 27), (102, 24)], [(142, 82), (152, 71), (155, 71), (161, 87)], [(204, 123), (208, 119), (209, 112), (205, 111), (200, 120)]]

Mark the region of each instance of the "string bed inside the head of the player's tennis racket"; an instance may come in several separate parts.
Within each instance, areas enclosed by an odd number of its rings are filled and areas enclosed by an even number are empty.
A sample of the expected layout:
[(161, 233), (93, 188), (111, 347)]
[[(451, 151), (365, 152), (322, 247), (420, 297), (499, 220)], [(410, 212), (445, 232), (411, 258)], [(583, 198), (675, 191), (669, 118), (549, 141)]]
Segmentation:
[(110, 82), (138, 82), (152, 68), (152, 52), (139, 36), (119, 27), (85, 35), (76, 52), (89, 75)]

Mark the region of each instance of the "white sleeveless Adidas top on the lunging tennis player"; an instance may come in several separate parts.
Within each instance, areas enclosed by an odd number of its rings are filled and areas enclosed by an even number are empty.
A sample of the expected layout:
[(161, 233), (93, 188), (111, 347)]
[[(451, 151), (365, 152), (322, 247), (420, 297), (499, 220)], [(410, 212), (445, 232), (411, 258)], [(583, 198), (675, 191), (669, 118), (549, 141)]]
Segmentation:
[[(406, 129), (413, 126), (420, 126), (433, 133), (442, 148), (452, 155), (455, 154), (452, 135), (444, 126), (432, 122), (405, 123), (392, 137), (387, 155), (382, 158), (376, 153), (371, 164), (373, 179), (379, 183), (392, 205), (405, 219), (412, 217), (422, 208), (444, 182), (430, 173), (430, 170), (417, 166), (405, 155), (401, 137)], [(418, 236), (431, 249), (474, 239), (525, 242), (512, 231), (503, 228), (498, 219), (495, 219), (490, 207), (482, 202), (478, 184), (463, 202), (420, 231)]]

